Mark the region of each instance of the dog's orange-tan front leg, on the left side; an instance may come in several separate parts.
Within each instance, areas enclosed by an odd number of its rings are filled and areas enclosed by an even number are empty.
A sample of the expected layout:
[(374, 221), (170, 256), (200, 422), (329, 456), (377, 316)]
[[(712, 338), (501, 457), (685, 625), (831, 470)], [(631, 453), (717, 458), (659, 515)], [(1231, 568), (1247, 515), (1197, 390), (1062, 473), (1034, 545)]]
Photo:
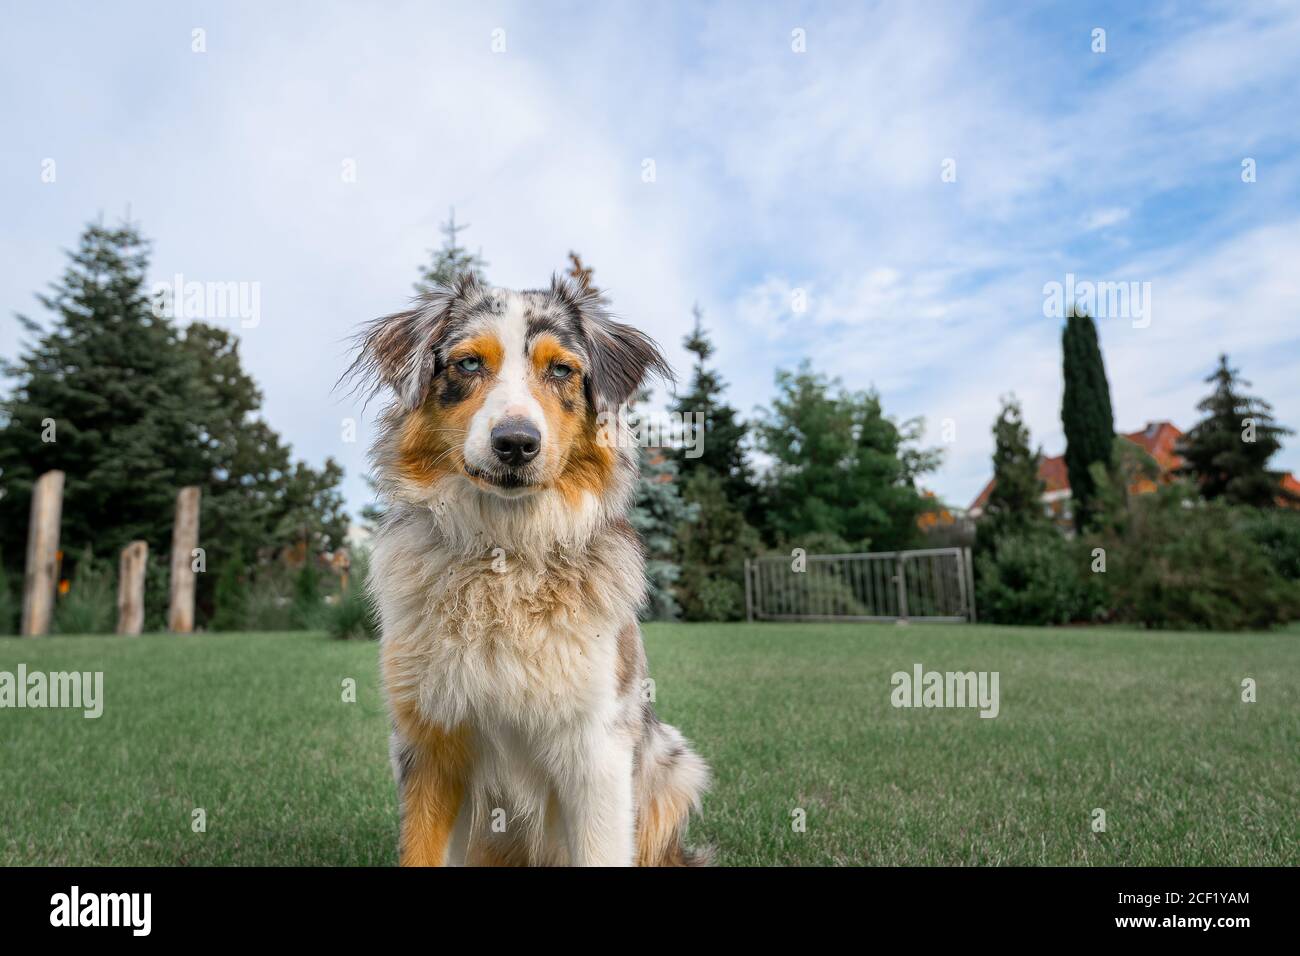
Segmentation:
[(456, 816), (465, 792), (469, 750), (463, 728), (408, 726), (395, 732), (398, 792), (402, 800), (402, 866), (447, 862)]

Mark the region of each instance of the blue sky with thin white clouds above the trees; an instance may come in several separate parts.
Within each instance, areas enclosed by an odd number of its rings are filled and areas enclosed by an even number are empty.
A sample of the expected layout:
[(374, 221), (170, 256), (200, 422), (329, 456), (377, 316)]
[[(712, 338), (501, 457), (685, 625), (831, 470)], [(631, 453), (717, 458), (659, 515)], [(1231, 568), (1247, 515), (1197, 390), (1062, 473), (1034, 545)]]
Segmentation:
[(377, 405), (332, 389), (454, 207), (495, 285), (580, 251), (682, 384), (698, 303), (745, 415), (809, 359), (923, 416), (966, 506), (1002, 395), (1063, 451), (1053, 284), (1126, 293), (1117, 429), (1191, 427), (1219, 352), (1300, 428), (1297, 116), (1294, 3), (4, 0), (0, 356), (129, 215), (155, 280), (256, 289), (216, 324), (355, 514)]

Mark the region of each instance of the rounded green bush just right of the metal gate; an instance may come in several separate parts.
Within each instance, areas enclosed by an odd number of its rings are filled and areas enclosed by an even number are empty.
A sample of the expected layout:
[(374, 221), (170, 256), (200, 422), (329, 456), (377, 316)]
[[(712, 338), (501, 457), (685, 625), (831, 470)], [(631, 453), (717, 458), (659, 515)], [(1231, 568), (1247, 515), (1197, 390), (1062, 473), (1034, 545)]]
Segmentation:
[(975, 607), (997, 624), (1067, 624), (1098, 617), (1088, 554), (1054, 528), (1008, 535), (975, 559)]

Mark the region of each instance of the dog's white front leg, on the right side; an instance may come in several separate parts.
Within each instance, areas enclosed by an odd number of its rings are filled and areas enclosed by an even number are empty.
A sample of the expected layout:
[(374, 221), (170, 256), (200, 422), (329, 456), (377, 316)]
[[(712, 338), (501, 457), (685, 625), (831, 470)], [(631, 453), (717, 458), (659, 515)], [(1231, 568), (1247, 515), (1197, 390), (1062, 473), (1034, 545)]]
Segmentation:
[(584, 735), (568, 752), (558, 787), (573, 866), (632, 866), (636, 812), (632, 741)]

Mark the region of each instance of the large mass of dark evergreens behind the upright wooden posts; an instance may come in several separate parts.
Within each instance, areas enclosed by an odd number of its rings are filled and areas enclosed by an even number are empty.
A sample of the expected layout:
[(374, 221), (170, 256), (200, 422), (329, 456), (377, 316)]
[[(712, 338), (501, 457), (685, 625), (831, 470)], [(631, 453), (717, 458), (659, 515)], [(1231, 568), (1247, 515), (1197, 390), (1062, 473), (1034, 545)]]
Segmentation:
[[(334, 488), (342, 470), (294, 464), (264, 421), (238, 339), (202, 323), (183, 332), (146, 294), (148, 243), (133, 224), (94, 224), (38, 300), (47, 328), (20, 316), (32, 343), (5, 365), (14, 380), (0, 402), (0, 555), (21, 566), (36, 477), (66, 473), (66, 554), (94, 546), (114, 562), (134, 538), (164, 562), (176, 494), (203, 490), (202, 546), (218, 571), (230, 555), (290, 544), (342, 541), (347, 515)], [(312, 520), (292, 510), (316, 509)], [(151, 562), (152, 563), (152, 562)], [(153, 572), (151, 568), (150, 579)], [(199, 615), (212, 610), (214, 575), (199, 576)], [(165, 579), (165, 574), (164, 574)], [(152, 583), (152, 580), (150, 581)]]

